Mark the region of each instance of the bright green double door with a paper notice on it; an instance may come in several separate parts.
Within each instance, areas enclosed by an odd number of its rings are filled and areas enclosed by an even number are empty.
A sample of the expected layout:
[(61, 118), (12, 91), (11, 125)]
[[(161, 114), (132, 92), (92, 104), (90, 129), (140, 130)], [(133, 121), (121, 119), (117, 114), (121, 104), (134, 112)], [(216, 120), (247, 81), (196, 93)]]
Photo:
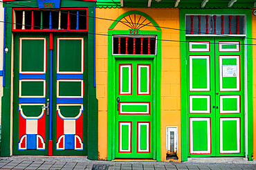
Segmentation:
[(188, 156), (244, 156), (244, 41), (187, 41)]

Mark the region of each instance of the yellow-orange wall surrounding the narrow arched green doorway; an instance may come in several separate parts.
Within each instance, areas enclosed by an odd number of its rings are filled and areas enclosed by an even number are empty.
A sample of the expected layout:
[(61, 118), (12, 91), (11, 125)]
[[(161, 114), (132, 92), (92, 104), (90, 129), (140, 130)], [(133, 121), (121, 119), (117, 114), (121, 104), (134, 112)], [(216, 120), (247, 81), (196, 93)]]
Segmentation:
[[(181, 62), (179, 46), (179, 9), (168, 8), (96, 8), (95, 17), (117, 19), (130, 10), (145, 12), (162, 29), (162, 68), (161, 68), (161, 160), (166, 161), (166, 126), (178, 126), (178, 157), (181, 161)], [(107, 160), (107, 59), (108, 28), (113, 21), (95, 19), (96, 35), (96, 95), (99, 101), (98, 151), (99, 159)], [(126, 30), (127, 28), (124, 27)], [(117, 28), (116, 28), (117, 29)], [(118, 28), (120, 29), (120, 28)], [(146, 27), (143, 30), (147, 30)], [(152, 28), (148, 28), (152, 30)]]

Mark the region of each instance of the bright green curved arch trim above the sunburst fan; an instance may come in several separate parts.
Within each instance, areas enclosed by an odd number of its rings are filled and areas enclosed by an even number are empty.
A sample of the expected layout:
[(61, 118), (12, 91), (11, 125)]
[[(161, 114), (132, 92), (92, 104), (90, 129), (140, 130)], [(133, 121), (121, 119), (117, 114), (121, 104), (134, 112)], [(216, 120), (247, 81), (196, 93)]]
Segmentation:
[(155, 27), (156, 30), (161, 30), (161, 28), (158, 26), (158, 24), (156, 23), (156, 21), (154, 21), (154, 19), (152, 19), (152, 17), (149, 17), (149, 15), (145, 14), (144, 12), (140, 12), (138, 10), (131, 10), (128, 12), (123, 13), (122, 15), (120, 15), (115, 21), (113, 21), (113, 23), (111, 24), (111, 26), (109, 27), (109, 30), (113, 30), (113, 28), (116, 26), (116, 24), (123, 18), (126, 17), (127, 15), (141, 15), (143, 17), (145, 17), (146, 19), (148, 19)]

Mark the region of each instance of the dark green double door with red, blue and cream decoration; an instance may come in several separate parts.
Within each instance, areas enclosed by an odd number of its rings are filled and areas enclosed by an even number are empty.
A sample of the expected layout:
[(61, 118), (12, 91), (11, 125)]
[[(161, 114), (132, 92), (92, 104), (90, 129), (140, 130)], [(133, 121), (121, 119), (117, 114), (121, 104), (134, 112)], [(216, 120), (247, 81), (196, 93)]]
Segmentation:
[(14, 47), (14, 155), (86, 155), (86, 37), (20, 34)]

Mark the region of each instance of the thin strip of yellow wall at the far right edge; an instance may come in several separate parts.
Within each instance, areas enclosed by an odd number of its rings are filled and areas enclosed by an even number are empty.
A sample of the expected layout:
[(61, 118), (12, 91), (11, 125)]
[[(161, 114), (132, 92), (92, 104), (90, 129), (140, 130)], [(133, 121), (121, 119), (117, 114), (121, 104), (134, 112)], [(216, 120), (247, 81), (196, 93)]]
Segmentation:
[[(253, 15), (253, 37), (256, 37), (256, 16)], [(256, 44), (256, 39), (253, 39)], [(253, 153), (256, 155), (256, 46), (253, 46)], [(255, 158), (254, 158), (255, 159)]]

